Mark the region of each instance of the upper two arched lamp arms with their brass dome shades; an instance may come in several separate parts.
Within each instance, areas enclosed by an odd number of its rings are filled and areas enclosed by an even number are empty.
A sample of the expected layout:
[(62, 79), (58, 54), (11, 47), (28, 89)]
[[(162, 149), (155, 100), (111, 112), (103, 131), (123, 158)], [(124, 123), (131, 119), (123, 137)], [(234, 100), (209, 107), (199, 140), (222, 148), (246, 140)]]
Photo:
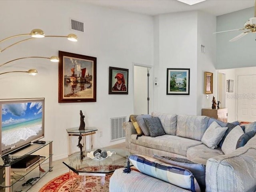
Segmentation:
[(19, 37), (19, 36), (27, 36), (27, 35), (31, 35), (31, 38), (27, 38), (27, 39), (24, 39), (24, 40), (21, 40), (21, 41), (18, 41), (18, 42), (15, 42), (14, 44), (11, 44), (9, 46), (7, 46), (6, 48), (3, 48), (3, 49), (0, 49), (0, 52), (3, 52), (4, 50), (10, 48), (11, 46), (14, 46), (18, 43), (21, 43), (21, 42), (24, 42), (24, 41), (27, 41), (27, 40), (30, 40), (30, 39), (34, 39), (34, 38), (43, 38), (43, 37), (65, 37), (65, 38), (68, 38), (68, 40), (70, 41), (74, 41), (76, 42), (77, 41), (77, 36), (75, 34), (68, 34), (67, 36), (55, 36), (55, 35), (45, 35), (44, 34), (44, 31), (41, 30), (41, 29), (33, 29), (30, 33), (28, 34), (19, 34), (19, 35), (14, 35), (14, 36), (10, 36), (8, 38), (5, 38), (3, 40), (0, 40), (0, 43), (8, 40), (8, 39), (11, 39), (11, 38), (14, 38), (14, 37)]

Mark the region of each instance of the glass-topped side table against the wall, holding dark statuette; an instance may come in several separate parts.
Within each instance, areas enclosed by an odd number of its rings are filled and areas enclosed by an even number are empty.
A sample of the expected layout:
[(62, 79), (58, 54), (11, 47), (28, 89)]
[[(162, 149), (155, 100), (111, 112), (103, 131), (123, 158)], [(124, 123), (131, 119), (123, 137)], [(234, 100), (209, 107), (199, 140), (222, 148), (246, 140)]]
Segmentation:
[[(68, 156), (71, 155), (71, 138), (70, 136), (78, 136), (83, 139), (83, 145), (82, 147), (84, 148), (84, 151), (86, 151), (86, 136), (90, 136), (90, 149), (93, 148), (93, 137), (92, 135), (96, 133), (96, 131), (98, 131), (98, 129), (96, 129), (95, 127), (85, 127), (85, 130), (78, 130), (79, 127), (76, 128), (69, 128), (66, 129), (68, 132)], [(80, 140), (78, 142), (78, 144), (80, 143)]]

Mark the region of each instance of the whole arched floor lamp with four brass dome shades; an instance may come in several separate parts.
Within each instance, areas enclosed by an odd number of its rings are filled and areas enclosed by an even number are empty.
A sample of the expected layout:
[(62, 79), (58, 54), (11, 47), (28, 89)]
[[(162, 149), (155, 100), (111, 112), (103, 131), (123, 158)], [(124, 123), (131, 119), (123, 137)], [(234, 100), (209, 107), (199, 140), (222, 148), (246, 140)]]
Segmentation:
[[(68, 34), (67, 36), (55, 36), (55, 35), (48, 35), (46, 36), (44, 34), (44, 31), (41, 30), (41, 29), (33, 29), (30, 33), (28, 34), (18, 34), (18, 35), (14, 35), (14, 36), (10, 36), (10, 37), (7, 37), (5, 39), (2, 39), (0, 40), (0, 44), (6, 40), (9, 40), (9, 39), (12, 39), (12, 38), (15, 38), (15, 37), (20, 37), (20, 36), (31, 36), (31, 38), (26, 38), (26, 39), (23, 39), (23, 40), (20, 40), (18, 42), (15, 42), (3, 49), (0, 49), (0, 53), (3, 52), (4, 50), (16, 45), (16, 44), (19, 44), (21, 42), (24, 42), (24, 41), (27, 41), (27, 40), (30, 40), (30, 39), (34, 39), (34, 38), (44, 38), (44, 37), (64, 37), (64, 38), (67, 38), (68, 40), (70, 41), (73, 41), (73, 42), (77, 42), (77, 36), (75, 34)], [(26, 58), (45, 58), (45, 59), (50, 59), (51, 62), (59, 62), (59, 58), (58, 56), (51, 56), (51, 57), (39, 57), (39, 56), (30, 56), (30, 57), (22, 57), (22, 58), (17, 58), (17, 59), (14, 59), (14, 60), (10, 60), (8, 62), (5, 62), (3, 64), (0, 64), (0, 67), (4, 66), (5, 64), (8, 64), (10, 62), (13, 62), (13, 61), (16, 61), (16, 60), (20, 60), (20, 59), (26, 59)], [(35, 75), (37, 74), (37, 70), (36, 69), (30, 69), (28, 71), (9, 71), (9, 72), (3, 72), (3, 73), (0, 73), (0, 75), (2, 74), (6, 74), (6, 73), (13, 73), (13, 72), (25, 72), (25, 73), (28, 73), (28, 74), (32, 74), (32, 75)]]

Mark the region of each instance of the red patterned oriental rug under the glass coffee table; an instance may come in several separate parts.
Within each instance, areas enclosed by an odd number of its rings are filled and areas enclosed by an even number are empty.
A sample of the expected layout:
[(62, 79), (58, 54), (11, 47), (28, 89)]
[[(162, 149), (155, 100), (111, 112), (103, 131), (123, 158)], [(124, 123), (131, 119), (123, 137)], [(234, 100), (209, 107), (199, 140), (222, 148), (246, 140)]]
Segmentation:
[(86, 176), (86, 186), (84, 190), (84, 177), (72, 172), (65, 173), (48, 182), (39, 192), (108, 192), (109, 178), (105, 177), (105, 184), (100, 184), (101, 177)]

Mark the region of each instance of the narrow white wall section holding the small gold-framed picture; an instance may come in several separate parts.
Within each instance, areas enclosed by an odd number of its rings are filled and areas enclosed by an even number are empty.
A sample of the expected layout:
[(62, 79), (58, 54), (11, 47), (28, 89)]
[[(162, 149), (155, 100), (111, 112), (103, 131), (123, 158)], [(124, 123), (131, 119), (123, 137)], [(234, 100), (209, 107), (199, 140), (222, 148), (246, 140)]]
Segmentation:
[[(212, 31), (216, 29), (216, 16), (198, 12), (198, 41), (197, 41), (197, 115), (202, 114), (202, 108), (212, 107), (212, 96), (218, 96), (218, 73), (216, 64), (216, 37)], [(201, 52), (201, 44), (205, 53)], [(213, 94), (204, 94), (204, 72), (213, 73)]]

